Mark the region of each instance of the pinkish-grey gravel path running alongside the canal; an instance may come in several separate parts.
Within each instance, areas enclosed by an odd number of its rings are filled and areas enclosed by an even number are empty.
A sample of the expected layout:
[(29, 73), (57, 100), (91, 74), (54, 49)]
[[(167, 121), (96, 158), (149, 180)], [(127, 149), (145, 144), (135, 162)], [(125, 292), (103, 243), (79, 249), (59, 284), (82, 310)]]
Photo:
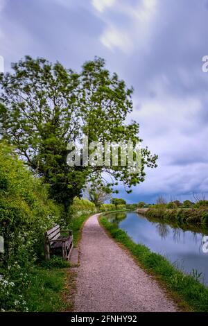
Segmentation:
[(91, 216), (80, 241), (74, 311), (177, 311), (153, 277), (107, 236)]

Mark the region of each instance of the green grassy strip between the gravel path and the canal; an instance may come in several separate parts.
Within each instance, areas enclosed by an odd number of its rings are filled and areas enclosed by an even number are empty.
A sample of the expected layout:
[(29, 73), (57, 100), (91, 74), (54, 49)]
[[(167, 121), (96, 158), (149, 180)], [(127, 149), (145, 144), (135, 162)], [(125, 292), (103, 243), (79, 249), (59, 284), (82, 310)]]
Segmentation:
[(150, 252), (146, 246), (136, 244), (128, 234), (108, 222), (104, 216), (101, 216), (100, 223), (116, 241), (128, 248), (141, 267), (166, 286), (168, 292), (177, 299), (179, 307), (184, 309), (188, 305), (193, 311), (208, 311), (208, 289), (198, 282), (198, 275), (194, 278), (177, 271), (165, 257)]

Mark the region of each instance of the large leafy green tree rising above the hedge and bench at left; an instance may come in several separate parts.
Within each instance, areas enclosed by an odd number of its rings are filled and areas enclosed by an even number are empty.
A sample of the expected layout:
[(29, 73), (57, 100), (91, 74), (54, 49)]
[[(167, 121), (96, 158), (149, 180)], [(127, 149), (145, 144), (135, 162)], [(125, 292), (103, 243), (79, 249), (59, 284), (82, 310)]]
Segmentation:
[[(93, 175), (105, 172), (127, 191), (144, 181), (144, 167), (156, 166), (156, 155), (142, 149), (141, 170), (127, 166), (68, 166), (67, 144), (87, 135), (89, 141), (139, 141), (139, 124), (126, 123), (132, 112), (132, 89), (105, 69), (105, 61), (86, 62), (80, 73), (59, 62), (26, 56), (1, 74), (1, 137), (13, 144), (28, 166), (42, 176), (55, 200), (71, 203)], [(116, 181), (115, 181), (116, 180)]]

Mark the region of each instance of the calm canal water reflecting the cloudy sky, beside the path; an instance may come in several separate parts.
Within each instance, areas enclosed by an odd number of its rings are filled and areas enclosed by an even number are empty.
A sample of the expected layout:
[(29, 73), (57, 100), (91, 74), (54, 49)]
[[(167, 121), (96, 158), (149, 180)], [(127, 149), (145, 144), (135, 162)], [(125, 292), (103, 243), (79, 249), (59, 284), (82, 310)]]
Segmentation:
[(193, 270), (202, 273), (200, 282), (208, 286), (208, 245), (205, 243), (208, 231), (184, 230), (184, 225), (180, 228), (161, 223), (136, 212), (113, 213), (107, 218), (127, 232), (135, 243), (144, 244), (151, 251), (165, 256), (184, 273), (192, 274)]

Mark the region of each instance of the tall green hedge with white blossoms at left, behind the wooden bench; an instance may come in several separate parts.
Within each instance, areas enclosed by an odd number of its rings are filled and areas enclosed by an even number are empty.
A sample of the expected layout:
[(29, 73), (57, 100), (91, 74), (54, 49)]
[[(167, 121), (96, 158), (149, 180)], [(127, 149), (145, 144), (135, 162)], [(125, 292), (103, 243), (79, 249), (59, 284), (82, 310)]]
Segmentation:
[(27, 311), (22, 291), (44, 252), (44, 232), (62, 221), (62, 207), (49, 199), (15, 151), (0, 142), (0, 235), (4, 239), (0, 306)]

